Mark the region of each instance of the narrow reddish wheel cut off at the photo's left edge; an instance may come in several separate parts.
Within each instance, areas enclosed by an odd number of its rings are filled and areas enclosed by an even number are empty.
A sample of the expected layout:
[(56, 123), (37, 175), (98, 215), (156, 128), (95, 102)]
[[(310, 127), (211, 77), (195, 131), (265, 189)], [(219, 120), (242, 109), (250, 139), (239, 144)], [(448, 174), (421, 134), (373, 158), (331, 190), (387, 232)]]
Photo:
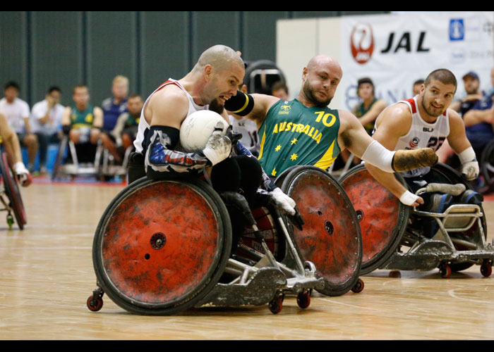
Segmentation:
[[(13, 215), (16, 217), (16, 222), (20, 230), (24, 229), (24, 225), (27, 223), (23, 199), (20, 197), (19, 182), (13, 173), (13, 170), (8, 165), (7, 154), (1, 153), (0, 172), (4, 182), (5, 193), (10, 201), (9, 206), (13, 210)], [(11, 227), (11, 221), (7, 216), (7, 222)]]

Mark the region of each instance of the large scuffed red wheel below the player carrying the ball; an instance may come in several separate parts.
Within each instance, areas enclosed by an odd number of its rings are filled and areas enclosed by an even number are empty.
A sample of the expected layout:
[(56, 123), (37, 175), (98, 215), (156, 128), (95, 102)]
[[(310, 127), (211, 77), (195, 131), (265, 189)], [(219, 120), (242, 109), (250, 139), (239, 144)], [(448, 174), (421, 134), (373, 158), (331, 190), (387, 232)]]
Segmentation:
[(97, 282), (118, 306), (171, 315), (207, 296), (230, 251), (229, 215), (209, 185), (143, 177), (104, 211), (92, 257)]

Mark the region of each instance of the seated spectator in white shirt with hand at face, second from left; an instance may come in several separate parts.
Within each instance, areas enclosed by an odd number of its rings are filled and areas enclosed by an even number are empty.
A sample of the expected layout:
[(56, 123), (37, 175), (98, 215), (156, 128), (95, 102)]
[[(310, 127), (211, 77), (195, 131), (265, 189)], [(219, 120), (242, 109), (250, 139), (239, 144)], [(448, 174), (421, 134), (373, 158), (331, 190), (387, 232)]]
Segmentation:
[(50, 143), (60, 142), (61, 119), (64, 106), (60, 104), (61, 89), (49, 87), (44, 100), (35, 103), (31, 110), (32, 132), (37, 136), (40, 151), (40, 173), (47, 173), (47, 153)]

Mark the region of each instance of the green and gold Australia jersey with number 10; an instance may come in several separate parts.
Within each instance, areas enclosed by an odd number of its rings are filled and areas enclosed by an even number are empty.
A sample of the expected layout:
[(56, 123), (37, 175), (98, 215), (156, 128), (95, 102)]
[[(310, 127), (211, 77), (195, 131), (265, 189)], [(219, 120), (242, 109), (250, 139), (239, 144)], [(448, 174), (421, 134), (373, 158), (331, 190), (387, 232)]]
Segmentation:
[(259, 162), (276, 177), (294, 165), (327, 170), (339, 155), (339, 115), (330, 108), (308, 108), (294, 99), (280, 100), (259, 129)]

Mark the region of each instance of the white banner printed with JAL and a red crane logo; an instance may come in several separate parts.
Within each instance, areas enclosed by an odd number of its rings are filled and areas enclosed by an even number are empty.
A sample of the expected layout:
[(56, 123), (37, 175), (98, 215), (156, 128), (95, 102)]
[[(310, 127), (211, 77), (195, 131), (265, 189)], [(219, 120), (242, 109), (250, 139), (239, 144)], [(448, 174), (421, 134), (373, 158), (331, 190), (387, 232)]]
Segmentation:
[(370, 77), (387, 103), (411, 98), (412, 84), (437, 68), (457, 77), (473, 70), (490, 89), (494, 66), (493, 12), (411, 13), (342, 18), (344, 108), (358, 101), (356, 81)]

